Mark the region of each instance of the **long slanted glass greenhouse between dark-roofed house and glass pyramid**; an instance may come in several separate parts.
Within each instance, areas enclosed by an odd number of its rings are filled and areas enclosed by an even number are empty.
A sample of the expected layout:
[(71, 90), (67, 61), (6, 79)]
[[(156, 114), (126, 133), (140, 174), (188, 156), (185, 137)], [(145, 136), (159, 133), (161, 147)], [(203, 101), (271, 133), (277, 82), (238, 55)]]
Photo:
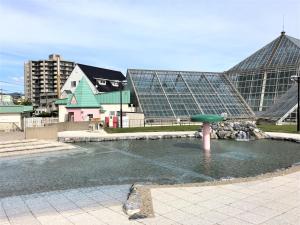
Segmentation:
[(223, 73), (129, 69), (127, 82), (146, 119), (188, 120), (199, 113), (255, 116)]

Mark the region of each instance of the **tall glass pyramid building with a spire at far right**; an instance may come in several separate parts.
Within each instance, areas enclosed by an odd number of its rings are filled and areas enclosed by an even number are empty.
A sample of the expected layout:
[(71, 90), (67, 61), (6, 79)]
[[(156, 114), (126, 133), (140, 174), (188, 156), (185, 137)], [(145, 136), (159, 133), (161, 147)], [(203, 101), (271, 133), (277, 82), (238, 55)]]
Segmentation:
[(300, 69), (300, 40), (281, 35), (226, 74), (253, 111), (266, 111), (292, 86)]

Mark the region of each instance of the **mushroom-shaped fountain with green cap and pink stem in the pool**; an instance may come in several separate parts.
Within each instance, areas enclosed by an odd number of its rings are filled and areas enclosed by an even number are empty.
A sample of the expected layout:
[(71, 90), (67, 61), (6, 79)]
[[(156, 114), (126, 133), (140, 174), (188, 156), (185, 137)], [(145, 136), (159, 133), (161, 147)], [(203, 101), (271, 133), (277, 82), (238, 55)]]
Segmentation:
[(202, 128), (202, 140), (203, 140), (203, 149), (205, 151), (210, 150), (210, 123), (219, 122), (224, 119), (223, 116), (214, 115), (214, 114), (197, 114), (191, 117), (193, 122), (203, 122)]

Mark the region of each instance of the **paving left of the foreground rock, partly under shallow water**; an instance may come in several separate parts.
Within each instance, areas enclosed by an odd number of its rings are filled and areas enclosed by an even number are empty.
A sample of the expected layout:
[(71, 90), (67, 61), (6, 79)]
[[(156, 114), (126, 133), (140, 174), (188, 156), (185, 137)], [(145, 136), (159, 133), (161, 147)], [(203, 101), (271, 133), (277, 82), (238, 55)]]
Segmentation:
[(101, 186), (3, 198), (0, 224), (140, 224), (129, 221), (122, 210), (129, 188)]

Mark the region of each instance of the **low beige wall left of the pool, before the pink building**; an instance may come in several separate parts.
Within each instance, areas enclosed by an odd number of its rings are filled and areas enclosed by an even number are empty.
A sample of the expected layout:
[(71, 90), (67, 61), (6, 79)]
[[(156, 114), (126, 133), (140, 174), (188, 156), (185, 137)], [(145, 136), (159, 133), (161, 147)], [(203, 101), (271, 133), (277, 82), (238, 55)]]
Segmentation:
[(89, 121), (55, 123), (45, 127), (29, 127), (25, 130), (25, 139), (57, 139), (60, 131), (88, 130)]

